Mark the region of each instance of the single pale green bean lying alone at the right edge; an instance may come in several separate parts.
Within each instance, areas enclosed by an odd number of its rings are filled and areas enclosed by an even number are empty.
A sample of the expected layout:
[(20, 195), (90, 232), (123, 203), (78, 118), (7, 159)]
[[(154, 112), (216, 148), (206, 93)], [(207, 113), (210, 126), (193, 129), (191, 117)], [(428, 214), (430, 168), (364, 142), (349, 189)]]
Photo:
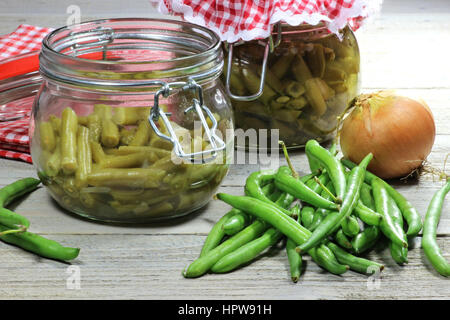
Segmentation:
[(422, 234), (422, 248), (425, 256), (434, 269), (444, 277), (450, 276), (450, 264), (442, 255), (441, 249), (436, 242), (436, 230), (441, 217), (442, 205), (449, 191), (450, 181), (433, 195), (428, 205)]

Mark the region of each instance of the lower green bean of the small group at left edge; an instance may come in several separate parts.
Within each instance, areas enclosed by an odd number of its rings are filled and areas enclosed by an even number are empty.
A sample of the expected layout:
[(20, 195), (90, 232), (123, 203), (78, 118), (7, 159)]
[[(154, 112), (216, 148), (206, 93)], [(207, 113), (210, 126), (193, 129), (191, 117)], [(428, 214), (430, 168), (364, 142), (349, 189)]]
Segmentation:
[[(0, 225), (0, 232), (9, 230), (8, 227)], [(31, 232), (11, 233), (0, 236), (0, 240), (14, 244), (22, 249), (36, 253), (44, 258), (68, 261), (75, 259), (79, 248), (63, 247), (54, 240), (46, 239)]]

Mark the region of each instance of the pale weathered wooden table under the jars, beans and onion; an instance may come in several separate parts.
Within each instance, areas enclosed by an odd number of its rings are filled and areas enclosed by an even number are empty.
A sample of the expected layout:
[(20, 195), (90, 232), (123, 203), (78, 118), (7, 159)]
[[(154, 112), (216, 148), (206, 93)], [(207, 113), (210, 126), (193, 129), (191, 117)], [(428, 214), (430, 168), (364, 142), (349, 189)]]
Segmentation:
[[(155, 16), (147, 1), (4, 0), (0, 34), (21, 23), (57, 27), (65, 24), (66, 8), (79, 5), (82, 20), (117, 16)], [(120, 5), (119, 5), (120, 4)], [(147, 14), (148, 13), (148, 14)], [(385, 1), (382, 13), (356, 33), (362, 56), (363, 91), (400, 88), (422, 96), (436, 120), (437, 136), (429, 165), (443, 168), (450, 152), (450, 4), (446, 0)], [(307, 170), (303, 151), (293, 152), (295, 166)], [(35, 176), (33, 166), (0, 160), (0, 186)], [(247, 175), (256, 165), (233, 165), (220, 191), (242, 194)], [(442, 182), (422, 176), (418, 182), (397, 183), (424, 215)], [(184, 279), (181, 270), (199, 254), (212, 225), (227, 211), (219, 201), (186, 218), (142, 226), (112, 226), (80, 219), (59, 208), (44, 188), (14, 209), (27, 216), (35, 233), (82, 248), (71, 265), (39, 258), (0, 243), (0, 298), (43, 299), (448, 299), (450, 282), (426, 261), (421, 238), (413, 242), (407, 266), (396, 265), (389, 250), (369, 258), (386, 265), (381, 277), (348, 272), (335, 276), (307, 262), (297, 284), (290, 281), (284, 250), (274, 249), (258, 261), (230, 274)], [(450, 200), (444, 206), (438, 243), (450, 260)], [(69, 268), (76, 266), (75, 269)], [(73, 270), (80, 289), (67, 285)], [(70, 281), (69, 281), (70, 282)]]

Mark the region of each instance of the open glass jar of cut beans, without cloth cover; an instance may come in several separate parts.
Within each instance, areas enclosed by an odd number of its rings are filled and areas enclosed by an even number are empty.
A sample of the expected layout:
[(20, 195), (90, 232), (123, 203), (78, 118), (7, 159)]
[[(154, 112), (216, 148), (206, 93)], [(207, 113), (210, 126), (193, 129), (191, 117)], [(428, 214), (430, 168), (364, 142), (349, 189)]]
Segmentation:
[(111, 19), (53, 31), (30, 127), (44, 185), (65, 209), (107, 222), (204, 206), (233, 149), (219, 38), (194, 24)]

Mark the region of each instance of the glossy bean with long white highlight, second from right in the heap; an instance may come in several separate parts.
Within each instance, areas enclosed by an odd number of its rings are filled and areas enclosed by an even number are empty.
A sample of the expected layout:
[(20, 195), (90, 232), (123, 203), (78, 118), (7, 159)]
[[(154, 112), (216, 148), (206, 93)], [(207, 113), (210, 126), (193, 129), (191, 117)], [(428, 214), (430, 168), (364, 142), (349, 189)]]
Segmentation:
[(403, 238), (403, 233), (396, 227), (394, 220), (389, 214), (389, 194), (379, 179), (372, 180), (372, 192), (377, 212), (383, 216), (380, 223), (380, 230), (392, 242), (403, 247), (408, 247), (408, 242)]

